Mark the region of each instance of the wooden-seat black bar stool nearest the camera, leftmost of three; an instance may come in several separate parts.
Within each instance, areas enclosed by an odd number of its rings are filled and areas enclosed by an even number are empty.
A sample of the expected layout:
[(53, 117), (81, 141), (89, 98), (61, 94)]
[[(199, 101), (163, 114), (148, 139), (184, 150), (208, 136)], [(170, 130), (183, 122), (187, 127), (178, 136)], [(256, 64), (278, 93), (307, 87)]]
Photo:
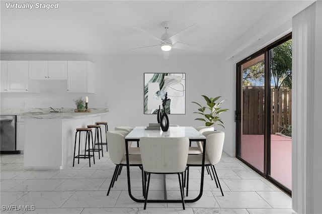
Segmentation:
[[(86, 132), (85, 152), (84, 152), (84, 155), (79, 154), (79, 152), (81, 150), (81, 133), (82, 132)], [(75, 152), (76, 152), (76, 142), (77, 142), (77, 134), (78, 134), (78, 155), (75, 156)], [(79, 164), (79, 158), (88, 158), (89, 159), (89, 162), (90, 162), (90, 167), (91, 167), (91, 157), (93, 157), (93, 161), (94, 161), (94, 164), (95, 164), (94, 151), (93, 151), (93, 155), (90, 154), (90, 139), (91, 139), (91, 136), (92, 136), (92, 148), (94, 148), (92, 129), (91, 128), (77, 128), (76, 129), (76, 133), (75, 133), (75, 144), (74, 144), (74, 158), (73, 158), (73, 161), (72, 161), (72, 167), (74, 167), (75, 158), (78, 158), (78, 164)], [(89, 149), (86, 149), (87, 142), (89, 143)], [(88, 152), (88, 154), (86, 154), (86, 152)]]

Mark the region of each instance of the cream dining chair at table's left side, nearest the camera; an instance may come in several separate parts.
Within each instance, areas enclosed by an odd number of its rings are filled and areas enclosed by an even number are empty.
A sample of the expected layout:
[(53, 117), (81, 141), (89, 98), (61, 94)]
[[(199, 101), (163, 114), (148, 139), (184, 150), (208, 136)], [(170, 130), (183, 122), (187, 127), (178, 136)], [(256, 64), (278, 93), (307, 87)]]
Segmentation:
[[(108, 152), (110, 155), (110, 159), (116, 165), (107, 195), (109, 195), (111, 188), (114, 186), (114, 183), (118, 178), (118, 175), (121, 173), (122, 167), (126, 166), (125, 136), (126, 136), (126, 132), (124, 132), (124, 131), (108, 131), (107, 132), (107, 139), (109, 141)], [(129, 155), (129, 164), (130, 164), (130, 166), (138, 166), (138, 167), (141, 167), (141, 169), (142, 169), (141, 156), (140, 155)], [(142, 171), (143, 195), (145, 193), (144, 192), (144, 184), (145, 184), (144, 180), (145, 179), (143, 177), (143, 171)]]

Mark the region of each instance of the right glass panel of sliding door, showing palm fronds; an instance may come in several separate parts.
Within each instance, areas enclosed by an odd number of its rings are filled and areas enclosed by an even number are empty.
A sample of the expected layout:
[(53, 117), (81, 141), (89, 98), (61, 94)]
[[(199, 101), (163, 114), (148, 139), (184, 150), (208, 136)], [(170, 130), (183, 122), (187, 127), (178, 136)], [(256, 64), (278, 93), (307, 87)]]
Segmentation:
[(270, 175), (292, 189), (292, 40), (269, 51), (271, 69)]

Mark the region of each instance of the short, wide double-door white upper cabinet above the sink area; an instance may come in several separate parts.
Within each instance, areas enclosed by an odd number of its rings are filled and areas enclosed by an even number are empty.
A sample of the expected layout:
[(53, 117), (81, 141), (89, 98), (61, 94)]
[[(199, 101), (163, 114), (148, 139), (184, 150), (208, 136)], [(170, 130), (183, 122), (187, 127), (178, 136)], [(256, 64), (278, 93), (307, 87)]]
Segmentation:
[(29, 61), (29, 79), (66, 80), (67, 61)]

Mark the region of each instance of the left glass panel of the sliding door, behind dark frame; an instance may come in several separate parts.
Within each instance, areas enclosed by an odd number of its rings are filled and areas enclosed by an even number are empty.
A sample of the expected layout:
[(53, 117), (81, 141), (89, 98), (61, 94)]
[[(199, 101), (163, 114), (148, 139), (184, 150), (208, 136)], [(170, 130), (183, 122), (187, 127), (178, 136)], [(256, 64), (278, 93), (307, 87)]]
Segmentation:
[(264, 172), (264, 54), (241, 65), (240, 157)]

